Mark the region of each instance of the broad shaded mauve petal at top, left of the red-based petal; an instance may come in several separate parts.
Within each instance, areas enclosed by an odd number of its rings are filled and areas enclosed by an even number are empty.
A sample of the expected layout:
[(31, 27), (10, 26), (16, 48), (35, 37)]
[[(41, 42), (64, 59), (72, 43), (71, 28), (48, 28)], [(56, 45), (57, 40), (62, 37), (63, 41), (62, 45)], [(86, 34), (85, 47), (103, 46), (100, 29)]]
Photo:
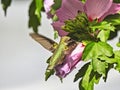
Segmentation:
[(79, 0), (62, 0), (61, 8), (56, 11), (56, 15), (62, 22), (73, 19), (78, 11), (83, 11), (83, 6)]

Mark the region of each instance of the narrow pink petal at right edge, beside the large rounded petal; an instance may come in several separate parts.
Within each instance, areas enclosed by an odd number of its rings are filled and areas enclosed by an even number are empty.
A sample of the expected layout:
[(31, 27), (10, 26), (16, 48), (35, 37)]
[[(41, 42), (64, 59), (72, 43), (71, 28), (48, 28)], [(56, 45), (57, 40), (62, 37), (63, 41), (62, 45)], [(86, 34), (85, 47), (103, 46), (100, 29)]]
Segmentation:
[(99, 21), (102, 21), (106, 16), (111, 15), (111, 14), (116, 14), (120, 11), (120, 4), (115, 4), (113, 3), (108, 12), (106, 12), (100, 19)]

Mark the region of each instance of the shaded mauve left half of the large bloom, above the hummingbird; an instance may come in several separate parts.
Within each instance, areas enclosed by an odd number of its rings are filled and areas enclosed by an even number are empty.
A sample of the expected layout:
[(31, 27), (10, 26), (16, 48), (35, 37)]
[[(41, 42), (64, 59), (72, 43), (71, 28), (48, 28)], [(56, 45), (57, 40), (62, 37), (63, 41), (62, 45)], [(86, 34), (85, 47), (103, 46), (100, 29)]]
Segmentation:
[[(61, 37), (68, 34), (61, 29), (61, 26), (64, 25), (64, 21), (73, 19), (78, 11), (83, 11), (83, 6), (84, 4), (79, 0), (62, 0), (61, 8), (56, 11), (59, 21), (52, 23), (53, 28), (58, 30)], [(58, 25), (59, 23), (60, 25)]]

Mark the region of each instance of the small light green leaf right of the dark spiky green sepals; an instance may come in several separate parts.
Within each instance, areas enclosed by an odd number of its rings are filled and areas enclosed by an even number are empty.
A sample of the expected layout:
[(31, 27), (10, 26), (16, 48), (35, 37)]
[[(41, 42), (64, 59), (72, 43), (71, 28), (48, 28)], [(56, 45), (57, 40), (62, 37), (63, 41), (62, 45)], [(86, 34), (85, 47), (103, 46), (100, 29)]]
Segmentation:
[(97, 38), (100, 38), (100, 40), (102, 42), (106, 42), (108, 40), (108, 38), (109, 38), (109, 35), (110, 35), (110, 31), (109, 30), (106, 30), (106, 31), (102, 30), (102, 31), (99, 32)]

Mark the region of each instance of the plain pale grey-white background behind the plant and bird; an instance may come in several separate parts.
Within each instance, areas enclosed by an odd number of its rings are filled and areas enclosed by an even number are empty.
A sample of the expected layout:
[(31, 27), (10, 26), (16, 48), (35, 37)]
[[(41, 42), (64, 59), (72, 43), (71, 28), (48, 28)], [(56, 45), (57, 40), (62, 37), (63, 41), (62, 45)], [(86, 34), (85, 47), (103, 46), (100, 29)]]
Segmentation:
[[(51, 53), (29, 36), (32, 31), (27, 26), (30, 2), (12, 2), (7, 17), (0, 7), (0, 90), (78, 90), (78, 82), (73, 83), (73, 79), (80, 66), (63, 83), (55, 76), (47, 82), (44, 80), (46, 60)], [(39, 32), (53, 39), (51, 22), (45, 14), (42, 16)], [(110, 41), (111, 45), (115, 46), (117, 40)], [(120, 74), (111, 70), (107, 83), (101, 80), (99, 85), (95, 85), (95, 90), (119, 90), (119, 84)]]

